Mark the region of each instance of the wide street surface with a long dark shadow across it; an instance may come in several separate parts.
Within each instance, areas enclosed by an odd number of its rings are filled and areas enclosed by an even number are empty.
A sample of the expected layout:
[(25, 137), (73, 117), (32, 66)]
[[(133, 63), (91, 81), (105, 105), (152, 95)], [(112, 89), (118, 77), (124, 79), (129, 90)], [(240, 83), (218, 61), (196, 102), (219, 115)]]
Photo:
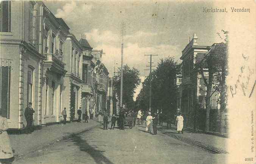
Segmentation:
[(103, 130), (94, 127), (71, 135), (51, 146), (28, 153), (14, 164), (136, 164), (136, 163), (225, 163), (225, 154), (213, 154), (158, 131), (145, 132), (145, 125), (133, 129)]

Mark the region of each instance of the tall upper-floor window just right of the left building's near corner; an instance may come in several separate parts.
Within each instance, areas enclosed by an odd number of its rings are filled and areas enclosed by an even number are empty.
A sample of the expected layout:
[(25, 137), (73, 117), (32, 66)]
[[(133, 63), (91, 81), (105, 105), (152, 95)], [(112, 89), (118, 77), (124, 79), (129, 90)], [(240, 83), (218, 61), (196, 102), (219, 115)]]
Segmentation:
[(29, 8), (29, 18), (28, 18), (28, 39), (30, 43), (35, 44), (35, 32), (36, 32), (36, 21), (35, 21), (35, 14), (36, 13), (36, 4), (31, 2)]

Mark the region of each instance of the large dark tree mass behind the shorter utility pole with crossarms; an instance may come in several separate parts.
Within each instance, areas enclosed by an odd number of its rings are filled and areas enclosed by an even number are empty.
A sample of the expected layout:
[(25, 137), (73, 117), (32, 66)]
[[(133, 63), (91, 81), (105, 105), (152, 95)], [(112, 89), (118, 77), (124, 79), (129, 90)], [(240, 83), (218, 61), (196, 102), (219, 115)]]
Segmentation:
[[(173, 57), (160, 59), (156, 70), (151, 72), (151, 108), (175, 111), (175, 97), (177, 92), (176, 74), (179, 71), (178, 62)], [(146, 110), (148, 109), (150, 78), (145, 78), (142, 83), (142, 89), (136, 100), (136, 105)]]

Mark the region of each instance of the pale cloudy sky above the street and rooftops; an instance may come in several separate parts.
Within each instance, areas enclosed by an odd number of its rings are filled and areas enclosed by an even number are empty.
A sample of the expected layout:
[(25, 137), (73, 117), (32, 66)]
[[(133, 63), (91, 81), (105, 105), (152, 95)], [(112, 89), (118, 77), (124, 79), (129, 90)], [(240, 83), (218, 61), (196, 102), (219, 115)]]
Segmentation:
[[(144, 81), (148, 75), (146, 65), (152, 57), (153, 65), (160, 58), (174, 57), (181, 63), (181, 51), (195, 33), (198, 45), (211, 46), (218, 43), (222, 26), (214, 26), (216, 18), (204, 13), (203, 8), (214, 4), (201, 1), (44, 1), (56, 17), (63, 18), (70, 32), (78, 40), (81, 34), (93, 49), (103, 49), (102, 62), (109, 77), (121, 65), (121, 23), (125, 23), (124, 64), (140, 71)], [(222, 23), (218, 23), (222, 24)], [(224, 25), (223, 25), (224, 26)], [(141, 89), (137, 87), (134, 100)]]

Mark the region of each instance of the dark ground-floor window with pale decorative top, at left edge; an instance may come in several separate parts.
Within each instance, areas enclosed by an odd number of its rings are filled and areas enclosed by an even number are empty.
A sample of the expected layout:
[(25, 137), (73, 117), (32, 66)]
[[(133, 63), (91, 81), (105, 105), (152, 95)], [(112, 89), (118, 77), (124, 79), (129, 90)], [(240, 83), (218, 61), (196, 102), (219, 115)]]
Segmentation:
[[(1, 59), (0, 63), (0, 110), (2, 116), (10, 118), (11, 60)], [(8, 65), (7, 65), (8, 64)]]

